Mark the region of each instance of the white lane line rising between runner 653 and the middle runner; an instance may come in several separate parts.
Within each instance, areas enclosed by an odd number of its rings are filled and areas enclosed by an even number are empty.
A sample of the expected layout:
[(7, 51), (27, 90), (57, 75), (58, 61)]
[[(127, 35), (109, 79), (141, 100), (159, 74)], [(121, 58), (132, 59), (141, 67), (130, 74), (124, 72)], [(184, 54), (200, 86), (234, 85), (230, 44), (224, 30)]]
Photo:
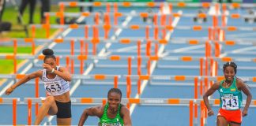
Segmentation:
[[(131, 13), (134, 13), (134, 11), (132, 11)], [(128, 16), (126, 17), (126, 20), (122, 23), (122, 26), (126, 26), (130, 20), (132, 19), (132, 16)], [(115, 35), (113, 35), (111, 37), (111, 40), (115, 40), (116, 36), (119, 36), (120, 33), (122, 32), (122, 28), (119, 28), (116, 32)], [(111, 46), (111, 43), (107, 43), (104, 48), (102, 50), (100, 50), (100, 53), (98, 54), (98, 56), (104, 56), (104, 53), (106, 52), (106, 50)], [(92, 64), (88, 65), (88, 69), (85, 70), (85, 72), (83, 73), (84, 76), (88, 75), (89, 72), (92, 71), (92, 69), (94, 68), (94, 64), (96, 64), (99, 60), (94, 60)], [(79, 85), (81, 84), (81, 80), (77, 80), (74, 84), (73, 87), (70, 89), (70, 96), (73, 95), (73, 92), (76, 91), (77, 87), (79, 87)], [(48, 118), (47, 122), (45, 122), (43, 125), (47, 125), (47, 123), (51, 122), (51, 120), (53, 120), (55, 116), (51, 116)]]

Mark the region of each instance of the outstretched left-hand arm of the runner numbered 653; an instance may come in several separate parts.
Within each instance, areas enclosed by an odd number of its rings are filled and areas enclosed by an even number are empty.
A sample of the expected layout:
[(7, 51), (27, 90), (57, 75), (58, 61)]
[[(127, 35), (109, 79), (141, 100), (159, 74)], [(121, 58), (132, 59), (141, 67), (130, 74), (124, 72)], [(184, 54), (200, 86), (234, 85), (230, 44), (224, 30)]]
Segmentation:
[(29, 80), (32, 80), (32, 79), (34, 79), (36, 77), (41, 77), (42, 74), (43, 74), (43, 72), (41, 70), (39, 70), (39, 71), (36, 71), (36, 72), (32, 72), (32, 73), (30, 73), (28, 75), (25, 75), (21, 80), (19, 80), (17, 83), (14, 83), (11, 87), (9, 87), (6, 90), (6, 95), (11, 94), (14, 91), (14, 89), (16, 87), (19, 87), (21, 84), (26, 83)]

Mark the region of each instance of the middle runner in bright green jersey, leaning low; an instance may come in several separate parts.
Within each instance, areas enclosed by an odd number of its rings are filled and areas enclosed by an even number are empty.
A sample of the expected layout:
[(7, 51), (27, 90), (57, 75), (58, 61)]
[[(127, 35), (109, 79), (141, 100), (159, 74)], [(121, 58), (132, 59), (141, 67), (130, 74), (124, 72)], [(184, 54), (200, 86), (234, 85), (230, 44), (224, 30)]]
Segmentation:
[(88, 116), (100, 118), (100, 126), (131, 126), (130, 110), (121, 104), (122, 92), (118, 88), (111, 88), (107, 93), (107, 104), (85, 109), (81, 114), (79, 124), (85, 124)]

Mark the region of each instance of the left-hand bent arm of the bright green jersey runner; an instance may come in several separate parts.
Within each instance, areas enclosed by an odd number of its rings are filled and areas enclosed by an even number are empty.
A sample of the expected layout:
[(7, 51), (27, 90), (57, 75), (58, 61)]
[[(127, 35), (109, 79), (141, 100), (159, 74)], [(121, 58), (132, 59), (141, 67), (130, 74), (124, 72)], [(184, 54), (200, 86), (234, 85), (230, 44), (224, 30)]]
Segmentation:
[(88, 116), (97, 116), (101, 117), (104, 113), (103, 106), (94, 106), (88, 109), (85, 109), (84, 112), (81, 114), (80, 120), (79, 120), (79, 126), (82, 126), (85, 124), (85, 120), (87, 120)]

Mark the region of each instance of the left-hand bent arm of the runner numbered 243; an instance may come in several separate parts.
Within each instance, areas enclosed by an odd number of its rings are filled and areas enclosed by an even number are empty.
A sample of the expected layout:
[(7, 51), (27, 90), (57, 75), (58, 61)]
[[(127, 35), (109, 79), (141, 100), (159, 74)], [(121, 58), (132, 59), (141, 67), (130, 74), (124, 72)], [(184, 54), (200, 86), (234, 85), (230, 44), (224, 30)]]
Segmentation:
[(218, 90), (218, 88), (220, 87), (220, 82), (218, 83), (214, 83), (212, 87), (209, 88), (208, 91), (205, 92), (205, 95), (203, 96), (204, 102), (205, 102), (205, 106), (208, 109), (208, 115), (212, 116), (213, 110), (211, 109), (211, 106), (209, 106), (209, 100), (208, 97), (209, 95), (213, 95), (213, 93)]

